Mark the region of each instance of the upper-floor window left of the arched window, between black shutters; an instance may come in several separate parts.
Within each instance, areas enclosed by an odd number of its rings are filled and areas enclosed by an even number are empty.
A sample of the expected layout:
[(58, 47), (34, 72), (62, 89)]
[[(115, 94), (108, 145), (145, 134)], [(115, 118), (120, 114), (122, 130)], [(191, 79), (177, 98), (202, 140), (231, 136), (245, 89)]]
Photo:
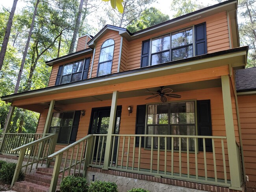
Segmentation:
[(83, 65), (84, 65), (83, 60), (64, 65), (63, 71), (61, 74), (60, 84), (81, 80)]

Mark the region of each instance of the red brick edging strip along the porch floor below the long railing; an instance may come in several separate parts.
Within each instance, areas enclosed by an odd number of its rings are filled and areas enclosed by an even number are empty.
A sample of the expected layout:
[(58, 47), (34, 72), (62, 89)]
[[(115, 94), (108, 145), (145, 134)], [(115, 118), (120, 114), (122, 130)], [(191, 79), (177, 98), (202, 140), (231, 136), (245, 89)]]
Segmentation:
[(241, 192), (238, 190), (232, 190), (232, 189), (229, 189), (226, 187), (221, 187), (221, 186), (193, 183), (190, 181), (180, 181), (180, 180), (176, 180), (176, 179), (160, 178), (160, 177), (154, 177), (154, 176), (150, 176), (150, 175), (133, 174), (133, 173), (121, 172), (121, 171), (115, 171), (115, 170), (102, 170), (101, 168), (89, 167), (89, 168), (87, 168), (87, 171), (99, 172), (99, 173), (109, 174), (109, 175), (117, 175), (117, 176), (121, 176), (121, 177), (130, 177), (133, 179), (142, 179), (145, 181), (153, 181), (153, 182), (157, 182), (157, 183), (176, 185), (176, 186), (182, 186), (182, 187), (193, 188), (193, 189), (198, 189), (198, 190), (206, 190), (206, 191), (211, 191), (211, 192)]

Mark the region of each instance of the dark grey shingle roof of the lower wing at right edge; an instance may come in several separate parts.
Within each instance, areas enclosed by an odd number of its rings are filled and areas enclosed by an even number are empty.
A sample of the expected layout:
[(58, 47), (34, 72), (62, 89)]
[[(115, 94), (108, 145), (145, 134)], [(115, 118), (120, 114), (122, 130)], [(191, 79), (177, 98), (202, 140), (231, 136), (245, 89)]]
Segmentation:
[(256, 90), (256, 67), (236, 71), (237, 92)]

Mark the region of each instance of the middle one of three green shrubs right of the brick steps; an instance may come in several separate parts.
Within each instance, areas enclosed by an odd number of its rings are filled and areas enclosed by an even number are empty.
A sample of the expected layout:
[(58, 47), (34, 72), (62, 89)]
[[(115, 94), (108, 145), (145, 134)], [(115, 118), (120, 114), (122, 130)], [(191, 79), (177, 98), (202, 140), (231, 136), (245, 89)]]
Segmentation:
[(89, 192), (118, 192), (117, 184), (106, 181), (95, 181), (90, 184)]

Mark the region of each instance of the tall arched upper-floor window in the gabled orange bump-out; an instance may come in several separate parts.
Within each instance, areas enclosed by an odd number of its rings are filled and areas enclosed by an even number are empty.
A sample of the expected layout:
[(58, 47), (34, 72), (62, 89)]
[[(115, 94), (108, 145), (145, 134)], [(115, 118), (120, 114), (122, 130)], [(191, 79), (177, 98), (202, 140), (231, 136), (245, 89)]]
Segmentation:
[(111, 74), (114, 45), (115, 41), (113, 39), (108, 39), (102, 44), (100, 49), (98, 76)]

